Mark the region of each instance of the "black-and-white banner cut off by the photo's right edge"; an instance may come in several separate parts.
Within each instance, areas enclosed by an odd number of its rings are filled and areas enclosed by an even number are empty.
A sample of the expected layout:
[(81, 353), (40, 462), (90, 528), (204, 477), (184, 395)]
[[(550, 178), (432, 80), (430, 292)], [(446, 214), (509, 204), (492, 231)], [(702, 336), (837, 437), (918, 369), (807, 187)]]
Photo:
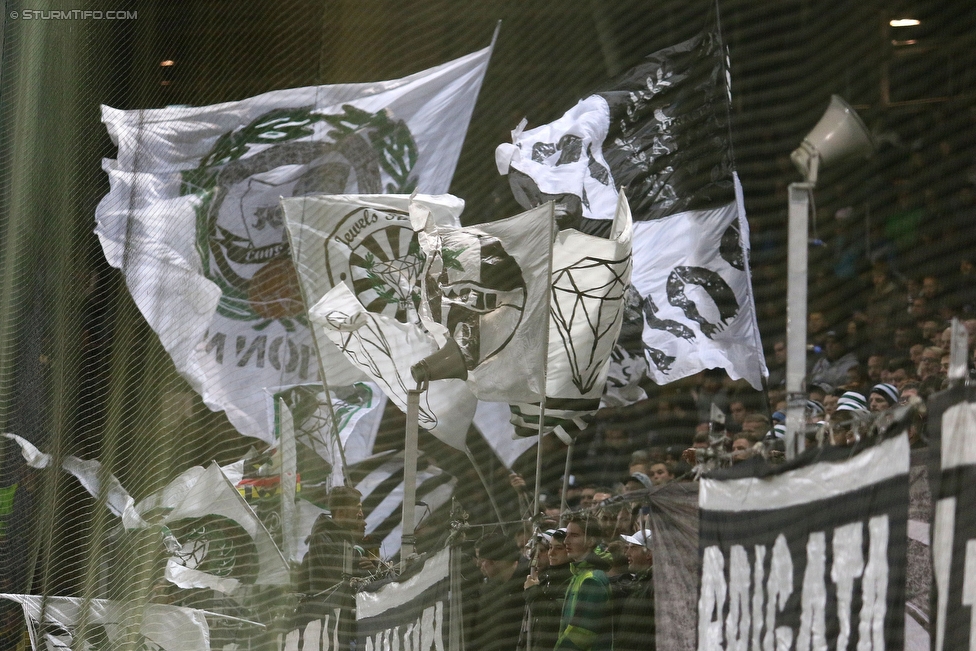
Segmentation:
[(976, 393), (950, 389), (929, 407), (933, 649), (965, 651), (976, 649)]

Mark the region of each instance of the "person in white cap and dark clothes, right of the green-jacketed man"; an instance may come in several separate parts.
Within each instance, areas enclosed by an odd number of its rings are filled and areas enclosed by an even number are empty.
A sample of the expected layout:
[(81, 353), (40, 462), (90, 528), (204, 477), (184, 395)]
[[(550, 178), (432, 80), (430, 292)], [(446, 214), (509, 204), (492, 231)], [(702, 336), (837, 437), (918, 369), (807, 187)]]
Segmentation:
[(654, 576), (651, 530), (621, 536), (627, 543), (628, 569), (634, 580), (618, 610), (614, 627), (614, 651), (654, 651)]

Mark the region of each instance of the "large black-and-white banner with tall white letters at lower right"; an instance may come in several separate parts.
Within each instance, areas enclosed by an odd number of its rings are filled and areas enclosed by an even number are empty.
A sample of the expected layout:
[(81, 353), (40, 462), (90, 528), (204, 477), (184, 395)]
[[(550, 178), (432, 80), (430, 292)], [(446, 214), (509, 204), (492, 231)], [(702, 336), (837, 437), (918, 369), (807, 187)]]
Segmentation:
[(901, 649), (908, 481), (904, 434), (703, 479), (698, 649)]

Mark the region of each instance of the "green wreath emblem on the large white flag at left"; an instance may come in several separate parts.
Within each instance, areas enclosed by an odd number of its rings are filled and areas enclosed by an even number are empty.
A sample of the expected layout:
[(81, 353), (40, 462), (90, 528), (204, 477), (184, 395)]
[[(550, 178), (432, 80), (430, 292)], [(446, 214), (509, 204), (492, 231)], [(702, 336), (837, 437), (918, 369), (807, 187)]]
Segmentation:
[(307, 325), (280, 197), (408, 194), (416, 186), (417, 145), (407, 125), (388, 112), (342, 109), (265, 113), (225, 133), (183, 173), (182, 194), (200, 198), (196, 246), (204, 275), (221, 289), (221, 315), (253, 321), (255, 330), (275, 320), (289, 331)]

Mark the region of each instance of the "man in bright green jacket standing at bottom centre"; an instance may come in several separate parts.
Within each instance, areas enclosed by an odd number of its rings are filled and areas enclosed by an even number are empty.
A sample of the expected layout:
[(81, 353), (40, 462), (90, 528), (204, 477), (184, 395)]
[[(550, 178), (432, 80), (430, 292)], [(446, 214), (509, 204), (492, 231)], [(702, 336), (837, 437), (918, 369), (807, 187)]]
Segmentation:
[(596, 554), (600, 527), (592, 516), (575, 513), (566, 524), (566, 552), (573, 577), (566, 588), (555, 651), (609, 651), (610, 563)]

